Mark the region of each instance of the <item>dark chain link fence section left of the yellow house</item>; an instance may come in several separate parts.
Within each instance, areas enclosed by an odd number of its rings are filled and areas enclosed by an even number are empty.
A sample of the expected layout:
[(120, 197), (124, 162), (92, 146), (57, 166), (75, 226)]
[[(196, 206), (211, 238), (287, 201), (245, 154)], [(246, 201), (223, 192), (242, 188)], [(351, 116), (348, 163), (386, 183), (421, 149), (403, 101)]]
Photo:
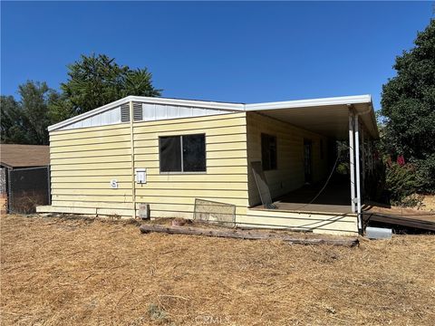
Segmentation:
[(9, 169), (9, 213), (30, 214), (35, 212), (36, 206), (50, 204), (49, 167)]

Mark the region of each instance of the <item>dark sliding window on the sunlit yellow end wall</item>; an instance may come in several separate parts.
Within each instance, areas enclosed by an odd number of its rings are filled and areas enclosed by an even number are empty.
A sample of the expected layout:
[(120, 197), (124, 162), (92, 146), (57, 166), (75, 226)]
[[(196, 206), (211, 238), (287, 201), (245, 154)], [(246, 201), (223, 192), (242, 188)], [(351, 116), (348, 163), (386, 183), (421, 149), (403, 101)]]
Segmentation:
[(160, 137), (160, 172), (206, 172), (206, 135)]

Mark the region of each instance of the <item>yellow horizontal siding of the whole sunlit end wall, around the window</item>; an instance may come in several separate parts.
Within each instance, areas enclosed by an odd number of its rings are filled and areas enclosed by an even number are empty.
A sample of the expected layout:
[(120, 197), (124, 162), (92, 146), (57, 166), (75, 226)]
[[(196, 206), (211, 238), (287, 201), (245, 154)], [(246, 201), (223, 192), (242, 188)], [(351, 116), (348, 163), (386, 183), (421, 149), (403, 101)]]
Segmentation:
[[(247, 207), (245, 113), (133, 124), (137, 203), (163, 214), (193, 214), (196, 197)], [(160, 174), (159, 137), (206, 134), (207, 173)], [(129, 214), (132, 208), (130, 125), (51, 133), (53, 206)], [(118, 188), (111, 189), (111, 179)], [(229, 187), (228, 187), (229, 185)]]

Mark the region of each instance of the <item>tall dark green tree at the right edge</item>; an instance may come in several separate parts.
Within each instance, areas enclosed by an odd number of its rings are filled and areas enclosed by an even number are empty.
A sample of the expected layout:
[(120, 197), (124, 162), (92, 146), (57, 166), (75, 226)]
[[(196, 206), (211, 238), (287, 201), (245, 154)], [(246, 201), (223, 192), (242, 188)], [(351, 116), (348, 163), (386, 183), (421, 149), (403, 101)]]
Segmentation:
[(382, 146), (416, 170), (419, 191), (435, 192), (435, 20), (396, 58), (397, 75), (382, 87)]

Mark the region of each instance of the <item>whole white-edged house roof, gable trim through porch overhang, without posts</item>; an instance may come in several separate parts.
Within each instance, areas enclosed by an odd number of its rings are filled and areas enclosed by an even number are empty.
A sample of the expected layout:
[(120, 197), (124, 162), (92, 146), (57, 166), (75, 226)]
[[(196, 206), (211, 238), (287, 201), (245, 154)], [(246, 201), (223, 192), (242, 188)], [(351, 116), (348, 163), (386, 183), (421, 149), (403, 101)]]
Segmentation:
[(276, 120), (283, 120), (297, 127), (312, 130), (335, 139), (346, 139), (348, 137), (349, 110), (353, 110), (354, 113), (361, 115), (362, 124), (372, 138), (379, 138), (370, 95), (253, 104), (127, 96), (95, 110), (56, 123), (50, 126), (48, 130), (62, 129), (71, 123), (89, 119), (94, 115), (112, 110), (130, 101), (228, 112), (256, 111)]

